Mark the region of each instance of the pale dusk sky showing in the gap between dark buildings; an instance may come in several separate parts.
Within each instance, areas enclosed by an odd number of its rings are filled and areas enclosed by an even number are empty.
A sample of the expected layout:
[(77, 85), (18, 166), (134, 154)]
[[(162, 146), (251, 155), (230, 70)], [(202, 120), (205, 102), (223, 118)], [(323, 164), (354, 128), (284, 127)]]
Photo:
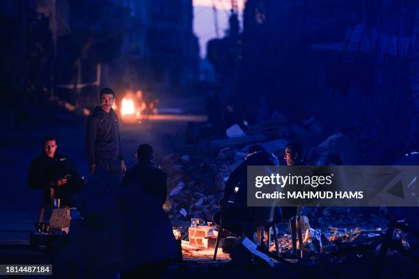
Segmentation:
[[(206, 44), (208, 40), (216, 38), (214, 25), (214, 12), (212, 10), (213, 3), (217, 9), (218, 30), (220, 37), (225, 35), (225, 30), (229, 26), (229, 14), (231, 9), (230, 0), (193, 0), (194, 5), (194, 33), (199, 38), (199, 47), (201, 49), (201, 57), (205, 57)], [(244, 0), (238, 0), (238, 8), (243, 9)], [(241, 21), (241, 13), (240, 13)]]

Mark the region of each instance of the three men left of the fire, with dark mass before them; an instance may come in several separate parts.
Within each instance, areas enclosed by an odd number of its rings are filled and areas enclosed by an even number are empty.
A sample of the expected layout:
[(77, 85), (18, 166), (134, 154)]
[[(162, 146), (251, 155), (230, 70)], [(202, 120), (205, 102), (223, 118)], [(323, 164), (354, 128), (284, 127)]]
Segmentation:
[[(127, 170), (114, 99), (113, 90), (103, 88), (100, 106), (88, 118), (86, 155), (91, 175), (87, 181), (68, 157), (57, 152), (53, 135), (45, 137), (41, 155), (29, 168), (28, 186), (45, 192), (44, 207), (53, 208), (54, 200), (60, 200), (61, 207), (76, 207), (84, 218), (72, 226), (65, 241), (53, 243), (53, 264), (60, 276), (119, 273), (130, 278), (144, 267), (161, 271), (178, 257), (172, 226), (162, 209), (167, 175), (153, 162), (149, 144), (138, 146), (138, 163)], [(162, 240), (148, 241), (149, 234)]]

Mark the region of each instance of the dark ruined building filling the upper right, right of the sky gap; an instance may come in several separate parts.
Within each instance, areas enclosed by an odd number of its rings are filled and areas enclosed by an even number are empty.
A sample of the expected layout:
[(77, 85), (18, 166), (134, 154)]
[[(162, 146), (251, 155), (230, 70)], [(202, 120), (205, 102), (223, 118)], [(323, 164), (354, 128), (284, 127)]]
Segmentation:
[(364, 163), (417, 148), (417, 11), (416, 1), (246, 1), (236, 85), (224, 96), (236, 100), (236, 122), (279, 111), (323, 139), (350, 135)]

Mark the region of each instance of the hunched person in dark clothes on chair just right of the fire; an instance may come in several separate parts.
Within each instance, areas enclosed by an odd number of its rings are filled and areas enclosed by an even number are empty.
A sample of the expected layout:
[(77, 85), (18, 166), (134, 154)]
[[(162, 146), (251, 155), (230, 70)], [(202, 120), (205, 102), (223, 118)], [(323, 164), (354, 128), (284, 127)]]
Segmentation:
[(236, 235), (253, 237), (253, 229), (241, 228), (240, 226), (228, 224), (228, 220), (239, 222), (252, 222), (255, 217), (255, 207), (247, 207), (247, 166), (248, 165), (278, 165), (278, 159), (271, 152), (266, 152), (259, 145), (251, 146), (247, 152), (246, 159), (231, 172), (225, 185), (225, 193), (219, 202), (220, 212), (215, 213), (213, 221), (220, 224), (223, 215), (223, 226), (225, 229)]

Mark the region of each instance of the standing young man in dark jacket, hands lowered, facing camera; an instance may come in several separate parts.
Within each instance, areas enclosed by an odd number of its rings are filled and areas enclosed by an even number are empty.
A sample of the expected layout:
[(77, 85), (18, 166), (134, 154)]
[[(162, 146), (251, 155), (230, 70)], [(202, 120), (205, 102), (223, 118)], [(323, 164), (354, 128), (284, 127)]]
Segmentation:
[(99, 93), (101, 106), (96, 107), (88, 118), (86, 131), (86, 154), (90, 165), (90, 174), (94, 174), (97, 165), (104, 168), (118, 182), (122, 182), (127, 168), (120, 148), (118, 116), (112, 105), (115, 94), (111, 88), (103, 88)]

